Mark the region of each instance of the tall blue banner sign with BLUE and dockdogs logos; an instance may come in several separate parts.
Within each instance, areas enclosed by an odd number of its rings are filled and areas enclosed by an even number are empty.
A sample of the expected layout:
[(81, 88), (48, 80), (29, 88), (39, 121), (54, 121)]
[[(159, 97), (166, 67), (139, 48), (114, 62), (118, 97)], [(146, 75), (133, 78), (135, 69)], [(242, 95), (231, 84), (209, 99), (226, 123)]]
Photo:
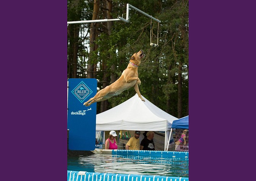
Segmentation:
[(90, 151), (95, 149), (96, 103), (83, 103), (97, 93), (96, 79), (68, 79), (68, 148)]

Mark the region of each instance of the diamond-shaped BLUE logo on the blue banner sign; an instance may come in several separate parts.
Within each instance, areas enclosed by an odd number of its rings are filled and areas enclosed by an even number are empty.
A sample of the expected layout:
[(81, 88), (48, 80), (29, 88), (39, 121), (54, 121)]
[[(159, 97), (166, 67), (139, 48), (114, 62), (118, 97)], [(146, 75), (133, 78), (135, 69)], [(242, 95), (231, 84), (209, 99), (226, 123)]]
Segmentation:
[(81, 81), (78, 86), (71, 91), (75, 97), (82, 103), (90, 94), (92, 94), (92, 90), (83, 82)]

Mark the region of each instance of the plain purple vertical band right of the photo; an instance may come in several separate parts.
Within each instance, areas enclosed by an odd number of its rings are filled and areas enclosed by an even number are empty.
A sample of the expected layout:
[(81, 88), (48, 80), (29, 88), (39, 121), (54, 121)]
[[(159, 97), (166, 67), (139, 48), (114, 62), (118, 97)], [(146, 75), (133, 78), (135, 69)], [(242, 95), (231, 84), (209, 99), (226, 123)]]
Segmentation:
[(253, 132), (243, 131), (255, 119), (253, 7), (251, 2), (190, 1), (190, 181), (255, 177), (246, 167), (254, 155)]

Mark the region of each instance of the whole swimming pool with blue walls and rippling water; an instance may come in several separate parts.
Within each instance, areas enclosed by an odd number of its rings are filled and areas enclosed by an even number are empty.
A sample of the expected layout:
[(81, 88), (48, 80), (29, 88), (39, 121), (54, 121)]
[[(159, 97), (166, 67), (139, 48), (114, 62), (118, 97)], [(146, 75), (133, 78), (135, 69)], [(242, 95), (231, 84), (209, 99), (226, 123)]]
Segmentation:
[(88, 176), (97, 175), (102, 178), (103, 175), (99, 174), (107, 173), (110, 176), (126, 175), (126, 178), (128, 178), (127, 174), (133, 174), (149, 176), (149, 178), (160, 176), (159, 179), (167, 180), (168, 178), (188, 180), (188, 152), (139, 150), (111, 150), (110, 152), (108, 150), (103, 154), (68, 157), (68, 171), (68, 174), (77, 176), (79, 171), (82, 171), (84, 178), (86, 173)]

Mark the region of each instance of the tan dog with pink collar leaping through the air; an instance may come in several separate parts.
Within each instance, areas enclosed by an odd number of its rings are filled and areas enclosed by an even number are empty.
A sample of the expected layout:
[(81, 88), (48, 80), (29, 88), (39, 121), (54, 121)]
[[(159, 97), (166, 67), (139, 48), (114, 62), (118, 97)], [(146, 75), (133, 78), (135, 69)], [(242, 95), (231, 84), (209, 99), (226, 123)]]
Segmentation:
[(85, 102), (84, 105), (89, 106), (94, 102), (107, 100), (114, 95), (121, 94), (123, 91), (129, 89), (130, 87), (134, 87), (139, 98), (141, 98), (142, 101), (145, 101), (141, 97), (141, 93), (139, 92), (138, 87), (138, 85), (141, 84), (141, 81), (138, 78), (138, 67), (141, 63), (141, 59), (144, 56), (145, 55), (143, 54), (143, 50), (134, 53), (133, 56), (131, 56), (130, 58), (130, 62), (127, 68), (123, 71), (120, 78), (117, 79), (117, 81), (115, 81), (114, 83), (105, 87), (104, 89), (101, 89), (94, 97), (90, 98), (87, 102)]

